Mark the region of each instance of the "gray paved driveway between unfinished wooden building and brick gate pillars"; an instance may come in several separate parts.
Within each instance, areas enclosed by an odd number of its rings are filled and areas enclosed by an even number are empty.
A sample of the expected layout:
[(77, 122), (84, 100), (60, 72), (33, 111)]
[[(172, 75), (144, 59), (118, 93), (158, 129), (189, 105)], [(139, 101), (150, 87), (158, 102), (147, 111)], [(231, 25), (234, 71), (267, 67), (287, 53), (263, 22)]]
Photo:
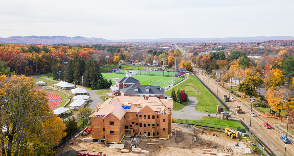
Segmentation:
[[(171, 98), (171, 96), (166, 96)], [(189, 97), (189, 102), (183, 109), (178, 111), (173, 111), (172, 118), (174, 119), (190, 119), (190, 120), (199, 120), (199, 116), (208, 116), (207, 113), (198, 112), (195, 110), (195, 106), (198, 103), (196, 97)], [(210, 113), (211, 114), (211, 113)], [(215, 114), (211, 114), (211, 116), (215, 117)]]

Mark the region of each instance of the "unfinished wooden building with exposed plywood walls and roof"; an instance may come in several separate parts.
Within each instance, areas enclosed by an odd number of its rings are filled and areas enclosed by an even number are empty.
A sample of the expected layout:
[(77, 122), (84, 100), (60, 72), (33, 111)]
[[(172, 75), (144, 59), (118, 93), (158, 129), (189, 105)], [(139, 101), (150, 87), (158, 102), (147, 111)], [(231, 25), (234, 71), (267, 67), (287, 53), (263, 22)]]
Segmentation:
[(125, 136), (146, 135), (168, 139), (171, 135), (172, 99), (157, 97), (109, 98), (99, 103), (92, 119), (93, 141), (121, 142)]

